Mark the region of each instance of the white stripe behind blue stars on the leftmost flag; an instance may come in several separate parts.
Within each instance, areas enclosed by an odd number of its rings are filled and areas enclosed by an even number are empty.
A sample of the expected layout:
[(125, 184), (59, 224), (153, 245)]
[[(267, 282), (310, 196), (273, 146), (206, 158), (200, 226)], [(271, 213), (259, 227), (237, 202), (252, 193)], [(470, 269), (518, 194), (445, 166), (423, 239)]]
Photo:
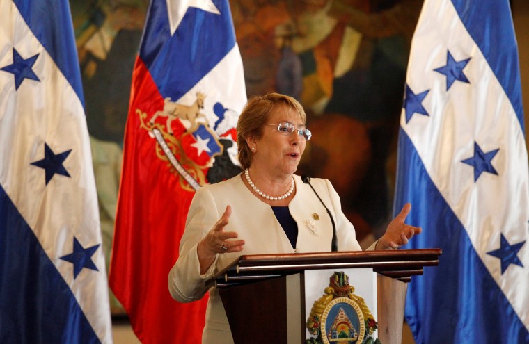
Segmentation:
[[(102, 243), (84, 109), (15, 4), (1, 1), (0, 13), (7, 21), (0, 26), (0, 66), (13, 63), (13, 49), (24, 59), (38, 54), (32, 69), (40, 79), (24, 79), (15, 90), (13, 74), (0, 72), (0, 108), (6, 109), (0, 115), (0, 161), (4, 162), (0, 184), (70, 286), (100, 340), (109, 343), (111, 332), (102, 327), (110, 324), (109, 309), (101, 306), (108, 305), (102, 247), (91, 256), (99, 272), (84, 269), (75, 279), (72, 263), (60, 259), (72, 253), (73, 237), (84, 247)], [(46, 185), (45, 170), (31, 165), (45, 158), (45, 143), (55, 154), (72, 149), (63, 162), (71, 179), (55, 174)]]

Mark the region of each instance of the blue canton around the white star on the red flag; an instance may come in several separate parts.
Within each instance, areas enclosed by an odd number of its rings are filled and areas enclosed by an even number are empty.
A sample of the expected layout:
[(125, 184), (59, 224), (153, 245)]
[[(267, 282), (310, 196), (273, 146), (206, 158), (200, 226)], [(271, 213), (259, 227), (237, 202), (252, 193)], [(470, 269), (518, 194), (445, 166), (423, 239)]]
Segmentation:
[[(208, 1), (204, 1), (207, 3)], [(140, 47), (162, 97), (180, 99), (235, 47), (235, 31), (228, 1), (210, 1), (219, 13), (187, 7), (171, 33), (166, 0), (154, 0)], [(230, 76), (226, 76), (226, 81)]]

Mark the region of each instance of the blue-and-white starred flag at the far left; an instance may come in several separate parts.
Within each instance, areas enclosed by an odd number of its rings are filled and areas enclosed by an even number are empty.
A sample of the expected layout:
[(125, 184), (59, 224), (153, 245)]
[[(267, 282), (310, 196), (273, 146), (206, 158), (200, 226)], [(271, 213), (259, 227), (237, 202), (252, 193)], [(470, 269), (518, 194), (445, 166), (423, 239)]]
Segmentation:
[(0, 13), (0, 343), (111, 343), (68, 1)]

